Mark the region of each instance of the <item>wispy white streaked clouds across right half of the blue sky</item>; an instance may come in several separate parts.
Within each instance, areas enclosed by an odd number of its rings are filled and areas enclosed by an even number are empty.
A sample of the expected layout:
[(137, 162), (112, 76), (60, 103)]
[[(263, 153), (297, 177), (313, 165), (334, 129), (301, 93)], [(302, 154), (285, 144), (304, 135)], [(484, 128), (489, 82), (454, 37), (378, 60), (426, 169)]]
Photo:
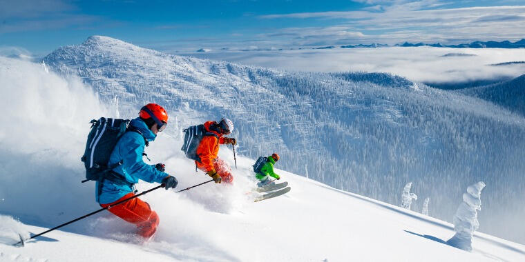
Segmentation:
[[(345, 26), (362, 32), (359, 41), (432, 41), (457, 43), (469, 40), (521, 39), (525, 32), (525, 6), (490, 6), (444, 8), (447, 3), (437, 0), (423, 1), (359, 1), (378, 4), (349, 12), (302, 12), (269, 14), (260, 19), (344, 19), (334, 22), (334, 28)], [(437, 9), (438, 8), (438, 9)], [(277, 30), (276, 34), (288, 29)], [(294, 30), (299, 30), (294, 28)], [(305, 29), (306, 30), (306, 29)], [(321, 29), (320, 29), (321, 30)], [(321, 30), (322, 31), (322, 30)], [(410, 35), (405, 34), (410, 32)], [(321, 34), (323, 35), (323, 34)], [(325, 40), (334, 40), (331, 34)]]

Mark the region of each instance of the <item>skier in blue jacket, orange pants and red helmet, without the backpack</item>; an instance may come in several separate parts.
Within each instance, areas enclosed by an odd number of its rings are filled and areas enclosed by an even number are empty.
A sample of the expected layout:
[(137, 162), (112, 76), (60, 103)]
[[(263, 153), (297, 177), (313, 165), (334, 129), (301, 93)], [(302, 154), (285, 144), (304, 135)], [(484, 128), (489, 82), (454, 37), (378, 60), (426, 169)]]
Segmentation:
[[(97, 181), (96, 199), (102, 208), (133, 196), (136, 192), (134, 184), (139, 179), (149, 183), (164, 183), (166, 190), (177, 186), (177, 179), (164, 172), (164, 164), (147, 165), (142, 161), (144, 146), (154, 141), (167, 123), (166, 110), (156, 103), (144, 105), (139, 117), (131, 120), (109, 159), (108, 167), (117, 166), (108, 172), (106, 179)], [(153, 236), (159, 224), (157, 213), (138, 198), (115, 205), (108, 211), (135, 224), (137, 234), (145, 239)]]

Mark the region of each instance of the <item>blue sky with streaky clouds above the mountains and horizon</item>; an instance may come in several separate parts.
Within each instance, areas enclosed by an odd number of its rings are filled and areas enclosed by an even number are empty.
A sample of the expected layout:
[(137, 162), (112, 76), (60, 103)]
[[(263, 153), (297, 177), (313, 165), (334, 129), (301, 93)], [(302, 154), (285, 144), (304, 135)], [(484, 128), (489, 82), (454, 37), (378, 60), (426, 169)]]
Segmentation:
[(524, 25), (525, 0), (0, 0), (0, 50), (37, 55), (94, 34), (174, 52), (518, 40)]

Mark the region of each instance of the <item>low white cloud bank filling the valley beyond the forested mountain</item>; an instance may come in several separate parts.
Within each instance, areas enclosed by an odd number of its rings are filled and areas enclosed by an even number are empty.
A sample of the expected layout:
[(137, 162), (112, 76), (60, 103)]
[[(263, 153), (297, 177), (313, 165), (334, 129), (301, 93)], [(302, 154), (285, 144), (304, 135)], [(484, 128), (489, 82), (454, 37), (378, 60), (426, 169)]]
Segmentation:
[[(443, 57), (448, 53), (467, 53), (475, 56)], [(525, 49), (351, 48), (214, 52), (196, 56), (293, 71), (390, 72), (422, 82), (518, 77), (525, 73), (525, 67), (522, 65), (488, 66), (508, 61), (525, 61)]]

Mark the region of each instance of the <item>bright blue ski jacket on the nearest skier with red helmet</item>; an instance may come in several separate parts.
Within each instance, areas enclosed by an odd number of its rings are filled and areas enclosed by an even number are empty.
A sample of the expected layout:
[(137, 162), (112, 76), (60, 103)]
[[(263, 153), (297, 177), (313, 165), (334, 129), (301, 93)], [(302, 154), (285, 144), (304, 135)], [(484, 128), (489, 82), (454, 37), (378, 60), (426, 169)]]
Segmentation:
[[(138, 183), (139, 179), (149, 183), (161, 183), (162, 179), (168, 177), (169, 174), (160, 172), (155, 168), (155, 165), (147, 165), (142, 161), (142, 153), (144, 153), (144, 147), (146, 146), (144, 139), (154, 141), (156, 135), (138, 117), (131, 120), (129, 125), (140, 131), (142, 135), (137, 132), (125, 132), (117, 142), (117, 145), (115, 145), (115, 148), (113, 148), (108, 166), (122, 161), (122, 165), (113, 168), (113, 171), (122, 175), (131, 184)], [(95, 196), (97, 202), (101, 204), (113, 203), (122, 198), (122, 196), (133, 192), (133, 185), (119, 185), (106, 179), (102, 183), (102, 189), (99, 194), (99, 183), (97, 181)]]

